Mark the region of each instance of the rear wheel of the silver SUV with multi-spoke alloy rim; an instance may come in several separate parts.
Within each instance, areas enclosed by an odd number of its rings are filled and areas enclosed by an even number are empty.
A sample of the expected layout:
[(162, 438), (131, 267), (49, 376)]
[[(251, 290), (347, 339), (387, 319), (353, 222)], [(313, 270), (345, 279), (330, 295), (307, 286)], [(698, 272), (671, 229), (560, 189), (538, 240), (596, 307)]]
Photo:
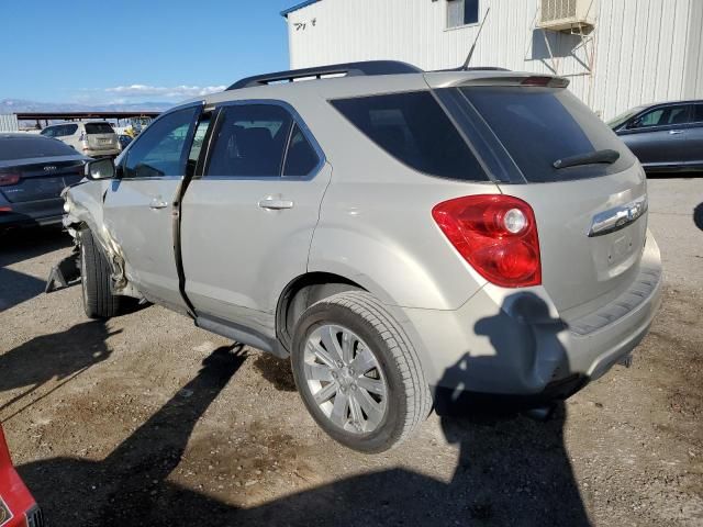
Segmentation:
[(371, 294), (347, 291), (301, 315), (291, 354), (308, 411), (333, 439), (367, 453), (412, 435), (432, 406), (410, 339)]

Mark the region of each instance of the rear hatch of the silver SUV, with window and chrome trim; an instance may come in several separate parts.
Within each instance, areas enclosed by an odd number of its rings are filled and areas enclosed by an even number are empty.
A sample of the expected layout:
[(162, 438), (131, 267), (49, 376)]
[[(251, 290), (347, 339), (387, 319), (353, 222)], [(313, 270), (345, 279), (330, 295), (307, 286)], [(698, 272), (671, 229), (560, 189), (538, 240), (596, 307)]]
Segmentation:
[[(566, 82), (536, 79), (544, 86), (483, 81), (437, 91), (451, 91), (455, 110), (447, 108), (462, 112), (465, 123), (473, 116), (467, 135), (489, 132), (475, 145), (486, 150), (482, 157), (507, 159), (507, 171), (518, 175), (500, 175), (500, 190), (533, 208), (543, 284), (561, 315), (573, 319), (635, 280), (647, 229), (646, 179), (629, 149)], [(573, 166), (555, 168), (559, 160)]]

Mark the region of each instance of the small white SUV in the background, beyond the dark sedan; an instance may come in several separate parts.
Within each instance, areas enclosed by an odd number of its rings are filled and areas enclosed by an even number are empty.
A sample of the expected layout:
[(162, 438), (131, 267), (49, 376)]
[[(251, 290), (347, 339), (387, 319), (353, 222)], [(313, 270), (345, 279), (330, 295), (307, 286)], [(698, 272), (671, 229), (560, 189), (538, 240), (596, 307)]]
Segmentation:
[(118, 134), (105, 121), (52, 124), (40, 134), (63, 141), (88, 157), (115, 157), (122, 152)]

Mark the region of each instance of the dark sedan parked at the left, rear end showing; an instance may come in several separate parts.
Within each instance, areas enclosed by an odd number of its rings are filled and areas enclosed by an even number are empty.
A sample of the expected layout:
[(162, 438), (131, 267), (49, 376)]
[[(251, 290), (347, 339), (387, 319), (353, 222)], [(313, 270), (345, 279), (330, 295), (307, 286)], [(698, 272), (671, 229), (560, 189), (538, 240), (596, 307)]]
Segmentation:
[(88, 159), (58, 139), (0, 134), (0, 231), (60, 223), (60, 193), (80, 181)]

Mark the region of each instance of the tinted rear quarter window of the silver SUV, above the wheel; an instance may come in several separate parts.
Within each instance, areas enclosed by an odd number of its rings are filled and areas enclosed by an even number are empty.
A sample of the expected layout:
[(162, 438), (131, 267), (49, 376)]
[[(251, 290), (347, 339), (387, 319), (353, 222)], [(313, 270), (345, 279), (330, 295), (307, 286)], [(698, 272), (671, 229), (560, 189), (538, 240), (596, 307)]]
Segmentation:
[(443, 178), (488, 180), (428, 91), (339, 99), (332, 104), (369, 139), (415, 170)]

